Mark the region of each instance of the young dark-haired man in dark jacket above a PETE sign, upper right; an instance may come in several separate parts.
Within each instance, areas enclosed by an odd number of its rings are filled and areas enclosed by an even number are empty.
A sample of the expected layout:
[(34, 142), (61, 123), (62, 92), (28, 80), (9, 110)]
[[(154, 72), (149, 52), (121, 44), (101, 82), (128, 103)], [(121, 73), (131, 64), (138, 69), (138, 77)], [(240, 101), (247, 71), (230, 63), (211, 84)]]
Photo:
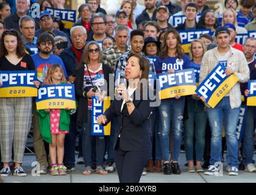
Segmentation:
[(185, 23), (176, 27), (176, 30), (194, 30), (205, 29), (204, 26), (196, 23), (197, 6), (194, 2), (190, 2), (185, 7)]

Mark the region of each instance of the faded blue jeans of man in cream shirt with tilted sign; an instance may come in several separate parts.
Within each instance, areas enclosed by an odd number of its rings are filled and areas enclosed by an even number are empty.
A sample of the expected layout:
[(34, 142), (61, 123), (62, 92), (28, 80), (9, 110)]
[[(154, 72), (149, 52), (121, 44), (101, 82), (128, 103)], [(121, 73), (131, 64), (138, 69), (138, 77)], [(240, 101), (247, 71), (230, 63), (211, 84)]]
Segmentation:
[(210, 165), (221, 161), (222, 130), (224, 119), (224, 130), (227, 140), (227, 163), (238, 167), (238, 140), (236, 138), (236, 126), (240, 107), (231, 108), (229, 97), (224, 97), (215, 108), (207, 108), (207, 116), (212, 131)]

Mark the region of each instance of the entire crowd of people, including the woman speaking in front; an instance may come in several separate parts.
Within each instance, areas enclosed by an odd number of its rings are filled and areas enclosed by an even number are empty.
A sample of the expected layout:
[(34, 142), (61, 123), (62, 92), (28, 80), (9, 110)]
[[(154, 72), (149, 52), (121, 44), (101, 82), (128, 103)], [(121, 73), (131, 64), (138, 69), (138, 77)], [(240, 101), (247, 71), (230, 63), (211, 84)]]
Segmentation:
[[(37, 88), (74, 83), (77, 108), (37, 110), (31, 97), (0, 98), (2, 177), (12, 172), (27, 175), (22, 163), (31, 125), (40, 174), (65, 175), (76, 169), (76, 163), (85, 165), (85, 176), (93, 171), (107, 175), (117, 169), (120, 182), (139, 182), (147, 171), (181, 174), (182, 140), (188, 172), (213, 175), (219, 169), (216, 162), (224, 161), (225, 146), (230, 176), (237, 176), (238, 169), (256, 172), (256, 107), (248, 106), (241, 143), (236, 138), (240, 107), (246, 105), (249, 94), (247, 82), (256, 79), (256, 39), (248, 37), (240, 44), (236, 35), (256, 30), (254, 0), (225, 0), (225, 10), (218, 17), (205, 0), (181, 0), (180, 5), (169, 0), (144, 0), (144, 5), (123, 0), (116, 15), (102, 9), (101, 1), (86, 0), (71, 29), (44, 10), (65, 9), (65, 1), (38, 4), (40, 16), (32, 18), (29, 0), (16, 0), (14, 9), (0, 3), (0, 71), (35, 70)], [(174, 18), (182, 15), (185, 21), (176, 26)], [(190, 51), (184, 52), (179, 30), (196, 29), (210, 29), (210, 33), (194, 39)], [(102, 125), (111, 121), (110, 135), (91, 135), (91, 98), (99, 95), (94, 87), (107, 88), (100, 96), (108, 96), (111, 74), (116, 77), (124, 71), (127, 80), (139, 82), (148, 79), (149, 73), (174, 74), (194, 68), (196, 82), (202, 83), (218, 63), (226, 66), (227, 76), (235, 74), (238, 82), (215, 108), (197, 94), (176, 94), (148, 108), (149, 102), (130, 99), (139, 85), (129, 82), (127, 88), (117, 88), (124, 101), (113, 101), (98, 119)], [(132, 135), (124, 127), (129, 125)]]

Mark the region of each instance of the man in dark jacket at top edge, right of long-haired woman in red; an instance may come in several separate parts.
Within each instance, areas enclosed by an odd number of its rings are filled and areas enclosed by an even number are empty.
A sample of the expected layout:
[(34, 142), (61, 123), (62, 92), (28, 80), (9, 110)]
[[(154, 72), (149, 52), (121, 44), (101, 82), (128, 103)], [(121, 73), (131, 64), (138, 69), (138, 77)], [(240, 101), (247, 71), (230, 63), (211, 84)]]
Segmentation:
[(137, 26), (143, 21), (157, 21), (157, 7), (155, 5), (156, 2), (157, 0), (144, 0), (144, 5), (146, 9), (144, 9), (143, 12), (136, 18), (135, 22)]

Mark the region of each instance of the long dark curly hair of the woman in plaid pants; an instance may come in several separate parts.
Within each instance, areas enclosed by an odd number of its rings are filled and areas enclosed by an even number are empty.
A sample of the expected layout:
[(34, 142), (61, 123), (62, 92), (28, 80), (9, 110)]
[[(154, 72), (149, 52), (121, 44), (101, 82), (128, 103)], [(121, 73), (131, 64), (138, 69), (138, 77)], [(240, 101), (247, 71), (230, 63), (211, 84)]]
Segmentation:
[(6, 35), (12, 35), (17, 38), (18, 45), (16, 48), (16, 55), (18, 55), (18, 57), (20, 57), (20, 58), (23, 57), (26, 54), (25, 46), (24, 46), (23, 41), (21, 40), (20, 34), (15, 29), (4, 30), (4, 32), (2, 33), (2, 37), (0, 40), (0, 57), (4, 57), (5, 55), (8, 55), (8, 51), (4, 46), (4, 37)]

